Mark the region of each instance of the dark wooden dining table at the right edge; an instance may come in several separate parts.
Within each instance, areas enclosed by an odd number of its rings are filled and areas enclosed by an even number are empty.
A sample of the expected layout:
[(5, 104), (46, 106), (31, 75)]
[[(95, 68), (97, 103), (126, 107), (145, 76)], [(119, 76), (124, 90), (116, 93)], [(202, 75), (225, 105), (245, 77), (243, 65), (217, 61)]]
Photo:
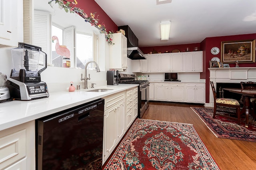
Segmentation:
[(255, 89), (243, 89), (242, 88), (223, 88), (232, 93), (242, 94), (245, 97), (244, 107), (241, 110), (241, 113), (245, 113), (245, 127), (248, 127), (248, 117), (250, 114), (250, 98), (256, 98)]

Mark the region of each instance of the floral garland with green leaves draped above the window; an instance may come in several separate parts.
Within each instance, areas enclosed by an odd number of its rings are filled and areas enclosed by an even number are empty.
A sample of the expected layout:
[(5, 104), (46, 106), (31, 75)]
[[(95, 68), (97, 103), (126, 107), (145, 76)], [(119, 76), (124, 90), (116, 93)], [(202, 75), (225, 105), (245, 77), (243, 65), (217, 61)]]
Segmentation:
[(88, 16), (86, 13), (84, 13), (84, 10), (73, 6), (77, 4), (76, 0), (74, 0), (74, 2), (69, 2), (67, 0), (50, 0), (48, 4), (50, 4), (51, 7), (53, 1), (55, 1), (55, 4), (59, 5), (60, 9), (64, 8), (66, 12), (69, 11), (70, 13), (76, 13), (80, 15), (82, 18), (84, 18), (84, 21), (89, 22), (92, 26), (96, 27), (100, 31), (100, 33), (104, 33), (106, 41), (108, 41), (109, 44), (114, 45), (114, 43), (112, 43), (112, 39), (110, 38), (112, 37), (113, 32), (107, 32), (106, 26), (104, 24), (98, 24), (99, 20), (98, 18), (95, 18), (95, 12), (91, 13), (90, 16)]

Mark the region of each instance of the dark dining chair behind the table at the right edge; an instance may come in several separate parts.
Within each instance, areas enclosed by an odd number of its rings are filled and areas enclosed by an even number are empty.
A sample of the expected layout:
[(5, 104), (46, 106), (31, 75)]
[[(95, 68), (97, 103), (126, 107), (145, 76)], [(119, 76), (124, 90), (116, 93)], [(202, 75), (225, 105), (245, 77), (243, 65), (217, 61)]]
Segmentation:
[[(251, 81), (249, 81), (249, 82), (240, 82), (240, 84), (241, 84), (242, 90), (244, 90), (244, 89), (256, 90), (256, 82), (251, 82)], [(242, 96), (243, 103), (244, 103), (244, 99), (245, 99), (244, 96)], [(255, 109), (255, 107), (256, 107), (256, 98), (250, 98), (250, 104), (251, 104), (251, 109), (252, 109), (251, 115), (252, 115), (253, 119), (255, 119), (256, 118), (256, 113), (255, 113), (255, 111), (256, 111), (256, 109)]]

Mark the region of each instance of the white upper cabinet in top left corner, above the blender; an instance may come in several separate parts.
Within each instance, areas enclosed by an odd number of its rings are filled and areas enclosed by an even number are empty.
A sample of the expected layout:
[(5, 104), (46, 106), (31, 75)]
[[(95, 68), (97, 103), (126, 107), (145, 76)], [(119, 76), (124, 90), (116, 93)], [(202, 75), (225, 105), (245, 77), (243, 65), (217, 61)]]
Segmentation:
[(23, 2), (0, 0), (0, 48), (23, 41)]

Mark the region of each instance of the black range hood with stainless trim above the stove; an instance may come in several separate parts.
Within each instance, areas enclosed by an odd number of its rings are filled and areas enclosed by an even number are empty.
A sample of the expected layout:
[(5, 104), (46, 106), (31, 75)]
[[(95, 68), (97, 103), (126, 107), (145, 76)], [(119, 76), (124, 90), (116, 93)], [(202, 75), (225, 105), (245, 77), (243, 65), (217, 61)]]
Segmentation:
[(118, 30), (123, 29), (127, 38), (127, 57), (132, 60), (144, 60), (145, 55), (138, 47), (138, 38), (128, 25), (119, 26)]

